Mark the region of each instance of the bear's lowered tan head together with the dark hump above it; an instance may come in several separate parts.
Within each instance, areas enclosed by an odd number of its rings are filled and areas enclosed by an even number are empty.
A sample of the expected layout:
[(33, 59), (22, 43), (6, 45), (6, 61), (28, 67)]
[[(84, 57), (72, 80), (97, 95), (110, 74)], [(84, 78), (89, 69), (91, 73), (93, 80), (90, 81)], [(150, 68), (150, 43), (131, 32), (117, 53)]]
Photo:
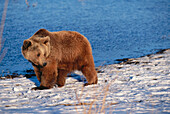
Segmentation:
[(44, 67), (50, 54), (50, 36), (45, 29), (40, 29), (32, 37), (24, 40), (22, 46), (23, 56), (34, 66)]

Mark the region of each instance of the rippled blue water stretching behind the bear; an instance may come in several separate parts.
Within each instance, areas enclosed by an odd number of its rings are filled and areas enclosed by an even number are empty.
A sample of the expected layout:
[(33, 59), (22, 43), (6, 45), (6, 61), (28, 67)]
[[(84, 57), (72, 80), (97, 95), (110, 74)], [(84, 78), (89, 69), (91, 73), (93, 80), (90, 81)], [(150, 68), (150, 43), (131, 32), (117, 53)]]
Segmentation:
[[(0, 1), (0, 19), (4, 8)], [(21, 54), (24, 39), (38, 29), (85, 35), (96, 66), (170, 48), (169, 0), (9, 0), (3, 32), (7, 54), (0, 74), (32, 69)], [(33, 7), (34, 5), (34, 7)], [(2, 50), (1, 50), (2, 53)]]

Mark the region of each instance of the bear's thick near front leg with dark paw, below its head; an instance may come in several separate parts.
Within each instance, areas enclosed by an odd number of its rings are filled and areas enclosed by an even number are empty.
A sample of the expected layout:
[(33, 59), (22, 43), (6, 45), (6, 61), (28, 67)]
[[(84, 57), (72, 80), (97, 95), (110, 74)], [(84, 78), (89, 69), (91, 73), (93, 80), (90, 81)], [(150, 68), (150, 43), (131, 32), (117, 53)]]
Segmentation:
[(41, 71), (41, 83), (40, 87), (32, 88), (32, 90), (43, 90), (52, 88), (57, 82), (57, 65), (53, 63), (48, 63), (45, 67), (40, 69)]

